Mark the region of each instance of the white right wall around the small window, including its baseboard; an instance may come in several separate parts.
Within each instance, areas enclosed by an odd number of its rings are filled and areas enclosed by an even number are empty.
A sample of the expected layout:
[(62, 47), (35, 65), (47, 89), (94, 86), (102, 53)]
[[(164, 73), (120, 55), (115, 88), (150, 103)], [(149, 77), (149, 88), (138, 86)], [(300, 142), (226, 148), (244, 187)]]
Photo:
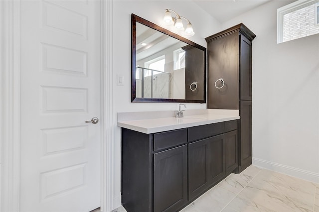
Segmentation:
[(319, 34), (277, 44), (270, 1), (222, 24), (243, 22), (253, 40), (253, 164), (319, 183)]

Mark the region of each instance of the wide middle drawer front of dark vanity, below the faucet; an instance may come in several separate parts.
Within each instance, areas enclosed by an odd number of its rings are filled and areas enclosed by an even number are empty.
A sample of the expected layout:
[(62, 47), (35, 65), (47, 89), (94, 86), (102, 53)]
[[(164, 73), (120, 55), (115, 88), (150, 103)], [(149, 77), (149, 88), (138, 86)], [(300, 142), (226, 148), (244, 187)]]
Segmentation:
[(188, 128), (188, 142), (208, 138), (225, 132), (225, 123), (213, 123)]

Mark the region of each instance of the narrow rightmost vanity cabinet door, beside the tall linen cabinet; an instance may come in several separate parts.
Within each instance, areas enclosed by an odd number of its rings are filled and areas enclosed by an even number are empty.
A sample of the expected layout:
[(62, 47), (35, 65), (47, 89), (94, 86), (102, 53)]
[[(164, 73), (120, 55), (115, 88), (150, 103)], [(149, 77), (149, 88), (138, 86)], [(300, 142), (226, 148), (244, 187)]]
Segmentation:
[(238, 167), (238, 133), (233, 130), (225, 133), (225, 169), (226, 175)]

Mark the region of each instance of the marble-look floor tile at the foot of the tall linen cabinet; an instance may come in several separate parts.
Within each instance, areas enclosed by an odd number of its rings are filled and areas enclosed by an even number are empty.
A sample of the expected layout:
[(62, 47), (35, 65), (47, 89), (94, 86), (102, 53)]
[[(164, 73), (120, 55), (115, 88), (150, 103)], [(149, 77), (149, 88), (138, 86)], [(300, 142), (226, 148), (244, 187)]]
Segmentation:
[(228, 191), (238, 194), (249, 182), (249, 179), (240, 176), (239, 174), (230, 174), (218, 185), (227, 189)]

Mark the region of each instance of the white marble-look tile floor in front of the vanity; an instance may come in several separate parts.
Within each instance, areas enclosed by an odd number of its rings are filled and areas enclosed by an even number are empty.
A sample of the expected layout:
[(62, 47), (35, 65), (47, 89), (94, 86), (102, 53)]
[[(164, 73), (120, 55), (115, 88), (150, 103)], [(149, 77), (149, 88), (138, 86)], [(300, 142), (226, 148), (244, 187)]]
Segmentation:
[(319, 212), (319, 184), (251, 165), (180, 212)]

